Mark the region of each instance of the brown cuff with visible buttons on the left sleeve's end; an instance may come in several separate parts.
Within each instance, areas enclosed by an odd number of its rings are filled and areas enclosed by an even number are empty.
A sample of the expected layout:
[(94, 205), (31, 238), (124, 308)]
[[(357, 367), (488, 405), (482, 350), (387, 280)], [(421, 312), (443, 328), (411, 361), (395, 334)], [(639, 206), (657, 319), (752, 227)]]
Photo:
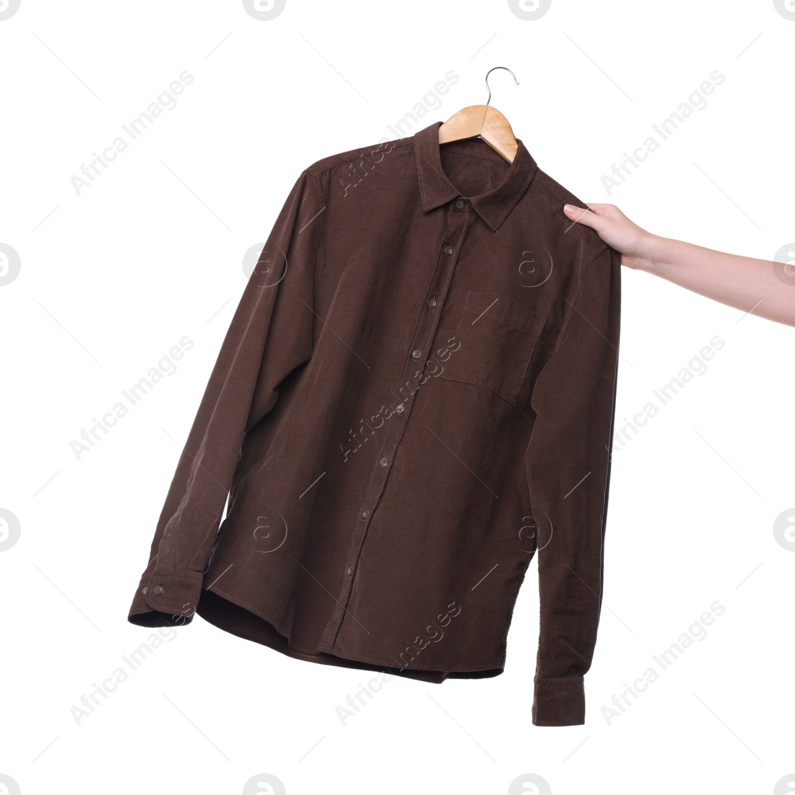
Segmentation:
[(144, 574), (127, 620), (138, 626), (184, 626), (193, 620), (204, 575), (201, 572), (155, 569)]

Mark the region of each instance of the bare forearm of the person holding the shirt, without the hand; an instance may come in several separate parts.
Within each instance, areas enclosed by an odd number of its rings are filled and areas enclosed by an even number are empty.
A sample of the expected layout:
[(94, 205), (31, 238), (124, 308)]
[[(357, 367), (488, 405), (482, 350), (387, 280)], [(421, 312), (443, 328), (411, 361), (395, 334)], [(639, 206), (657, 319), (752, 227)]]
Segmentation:
[(713, 301), (795, 326), (795, 287), (778, 278), (773, 262), (657, 235), (649, 235), (641, 256), (624, 260), (630, 268), (653, 273)]

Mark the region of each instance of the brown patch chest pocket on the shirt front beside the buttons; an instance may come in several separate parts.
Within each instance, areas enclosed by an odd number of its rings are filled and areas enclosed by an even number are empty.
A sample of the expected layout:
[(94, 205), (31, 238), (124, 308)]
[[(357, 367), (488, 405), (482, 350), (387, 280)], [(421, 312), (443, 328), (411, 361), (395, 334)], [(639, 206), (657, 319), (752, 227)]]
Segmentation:
[(506, 296), (470, 290), (456, 329), (461, 345), (441, 377), (482, 386), (516, 405), (545, 321)]

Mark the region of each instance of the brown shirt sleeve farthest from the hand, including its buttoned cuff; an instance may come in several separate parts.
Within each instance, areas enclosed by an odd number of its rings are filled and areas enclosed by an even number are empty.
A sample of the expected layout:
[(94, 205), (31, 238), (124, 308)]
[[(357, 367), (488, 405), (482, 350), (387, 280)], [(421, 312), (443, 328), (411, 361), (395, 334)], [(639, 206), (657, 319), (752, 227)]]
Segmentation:
[(243, 436), (273, 409), (281, 381), (312, 356), (319, 196), (314, 177), (302, 173), (242, 294), (157, 522), (130, 607), (134, 624), (191, 621)]

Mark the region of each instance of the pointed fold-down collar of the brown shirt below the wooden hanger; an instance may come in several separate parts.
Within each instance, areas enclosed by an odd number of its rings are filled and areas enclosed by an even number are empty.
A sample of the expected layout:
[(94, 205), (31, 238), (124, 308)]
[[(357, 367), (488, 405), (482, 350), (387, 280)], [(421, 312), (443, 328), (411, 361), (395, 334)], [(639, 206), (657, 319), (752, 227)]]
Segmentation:
[[(442, 122), (433, 122), (432, 125), (414, 134), (417, 179), (420, 182), (420, 198), (424, 212), (460, 196), (442, 170), (439, 153), (441, 124)], [(516, 157), (510, 164), (502, 184), (487, 193), (481, 193), (480, 196), (463, 196), (493, 232), (502, 226), (502, 222), (514, 209), (518, 200), (522, 198), (538, 169), (536, 161), (533, 160), (525, 145), (519, 139), (517, 139), (517, 144)]]

